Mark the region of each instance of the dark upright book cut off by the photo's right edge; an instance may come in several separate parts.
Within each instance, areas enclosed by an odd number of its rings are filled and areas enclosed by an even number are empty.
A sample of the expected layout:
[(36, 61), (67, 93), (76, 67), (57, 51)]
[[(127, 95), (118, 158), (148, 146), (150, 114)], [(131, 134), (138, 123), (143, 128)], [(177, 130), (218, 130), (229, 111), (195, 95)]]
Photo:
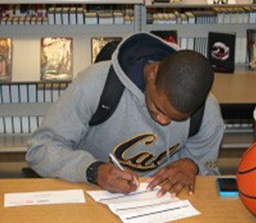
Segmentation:
[(247, 30), (247, 58), (249, 67), (256, 70), (256, 30)]

